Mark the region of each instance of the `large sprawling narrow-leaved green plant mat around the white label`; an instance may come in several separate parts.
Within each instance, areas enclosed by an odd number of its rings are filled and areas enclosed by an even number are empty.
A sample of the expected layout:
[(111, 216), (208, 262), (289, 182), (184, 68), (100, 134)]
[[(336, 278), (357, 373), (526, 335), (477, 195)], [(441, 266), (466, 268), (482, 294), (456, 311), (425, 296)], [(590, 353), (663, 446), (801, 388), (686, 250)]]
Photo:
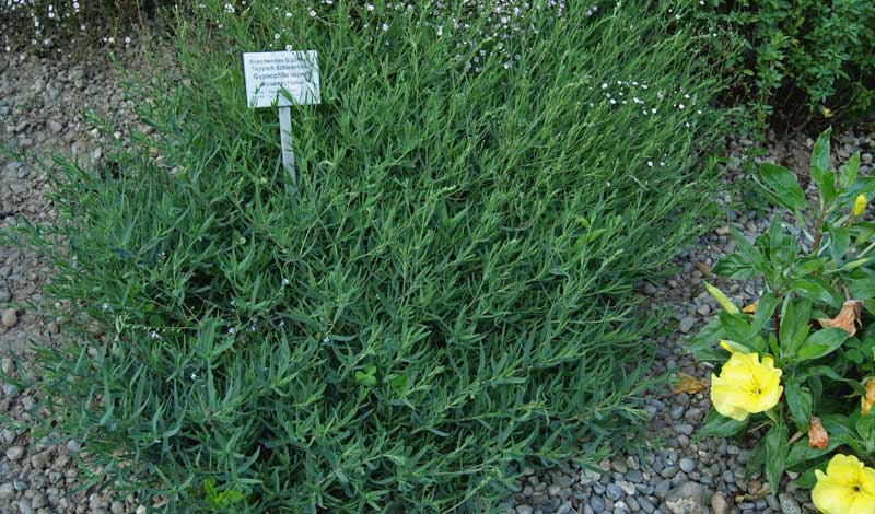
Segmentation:
[[(62, 162), (61, 223), (32, 230), (82, 327), (42, 353), (46, 407), (95, 481), (179, 510), (470, 511), (639, 433), (658, 319), (631, 293), (709, 206), (715, 84), (650, 2), (503, 9), (180, 23), (190, 85), (131, 90), (155, 131), (101, 174)], [(287, 46), (323, 87), (293, 108), (294, 187), (240, 56)]]

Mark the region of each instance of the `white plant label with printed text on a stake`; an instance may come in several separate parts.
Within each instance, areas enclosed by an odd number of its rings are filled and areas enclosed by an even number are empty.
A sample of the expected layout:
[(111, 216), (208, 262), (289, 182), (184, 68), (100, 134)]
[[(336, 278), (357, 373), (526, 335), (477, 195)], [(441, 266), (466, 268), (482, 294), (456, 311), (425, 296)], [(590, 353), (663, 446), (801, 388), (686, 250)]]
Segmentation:
[(319, 63), (315, 50), (256, 51), (243, 54), (246, 103), (250, 108), (279, 107), (282, 165), (292, 177), (292, 105), (315, 105), (319, 97)]

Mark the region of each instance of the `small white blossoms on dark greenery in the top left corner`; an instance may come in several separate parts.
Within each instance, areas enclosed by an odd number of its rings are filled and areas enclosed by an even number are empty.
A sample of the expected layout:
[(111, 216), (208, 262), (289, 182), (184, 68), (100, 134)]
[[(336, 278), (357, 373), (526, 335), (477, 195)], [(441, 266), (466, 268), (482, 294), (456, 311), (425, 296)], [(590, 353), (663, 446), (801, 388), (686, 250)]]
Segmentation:
[[(7, 52), (13, 50), (13, 44), (21, 40), (13, 42), (10, 34), (21, 36), (21, 27), (30, 26), (30, 44), (33, 47), (48, 48), (52, 44), (52, 38), (56, 35), (66, 34), (70, 37), (71, 33), (86, 34), (89, 24), (85, 19), (90, 17), (89, 13), (84, 11), (84, 3), (86, 0), (65, 1), (60, 0), (58, 3), (49, 3), (46, 0), (5, 0), (0, 3), (0, 15), (5, 19), (5, 23), (0, 25), (0, 33), (3, 34), (3, 49)], [(92, 11), (102, 10), (103, 8), (98, 2), (94, 2)], [(98, 12), (98, 14), (105, 14)], [(75, 43), (75, 37), (70, 37), (70, 43)], [(130, 36), (117, 39), (114, 36), (103, 36), (101, 38), (106, 44), (113, 45), (124, 42), (126, 45), (131, 43)], [(59, 45), (57, 51), (62, 51)]]

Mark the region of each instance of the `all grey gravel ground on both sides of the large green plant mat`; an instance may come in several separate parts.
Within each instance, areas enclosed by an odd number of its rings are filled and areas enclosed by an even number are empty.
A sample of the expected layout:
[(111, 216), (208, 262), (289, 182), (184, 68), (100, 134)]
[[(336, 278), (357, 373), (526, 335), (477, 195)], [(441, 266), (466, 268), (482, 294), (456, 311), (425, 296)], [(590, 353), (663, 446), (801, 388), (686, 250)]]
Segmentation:
[[(143, 69), (147, 46), (131, 45), (121, 56), (127, 67)], [(83, 108), (101, 115), (117, 114), (119, 132), (135, 122), (131, 106), (119, 87), (121, 74), (101, 54), (81, 59), (42, 59), (28, 55), (0, 54), (0, 126), (2, 140), (21, 150), (57, 151), (75, 159), (100, 160), (105, 143), (102, 136), (81, 116)], [(794, 170), (807, 168), (813, 145), (808, 138), (772, 142), (768, 160)], [(725, 178), (747, 180), (742, 172), (750, 141), (730, 141)], [(861, 172), (872, 168), (875, 133), (847, 132), (835, 144), (837, 156), (844, 160), (853, 151), (863, 153)], [(19, 220), (50, 222), (54, 210), (46, 198), (45, 173), (0, 156), (0, 226)], [(744, 187), (731, 188), (744, 191)], [(730, 195), (723, 198), (728, 205)], [(744, 199), (743, 199), (744, 202)], [(727, 208), (726, 223), (746, 235), (761, 233), (773, 214), (745, 208)], [(734, 250), (727, 225), (702, 236), (698, 244), (677, 261), (680, 270), (658, 283), (646, 283), (640, 291), (654, 312), (667, 308), (675, 313), (666, 325), (669, 336), (656, 339), (654, 372), (682, 372), (707, 379), (711, 366), (685, 355), (679, 340), (698, 330), (718, 311), (715, 302), (702, 288), (702, 280), (713, 281), (738, 304), (750, 303), (761, 284), (725, 282), (711, 277), (711, 267)], [(3, 357), (4, 373), (26, 372), (32, 355), (30, 341), (51, 340), (63, 327), (38, 313), (40, 290), (50, 276), (47, 262), (16, 247), (0, 246), (0, 354), (14, 351), (23, 357), (23, 370)], [(670, 392), (649, 400), (649, 435), (654, 441), (643, 458), (615, 457), (600, 463), (602, 472), (569, 466), (538, 474), (527, 470), (518, 492), (512, 499), (512, 512), (533, 513), (801, 513), (813, 510), (807, 492), (797, 490), (788, 474), (779, 494), (766, 494), (760, 476), (745, 478), (744, 465), (749, 444), (708, 439), (692, 442), (710, 404), (705, 392), (696, 395)], [(26, 422), (45, 416), (37, 398), (2, 384), (0, 414)], [(128, 513), (144, 512), (133, 497), (119, 498), (112, 491), (84, 490), (71, 459), (78, 452), (75, 441), (34, 441), (27, 431), (3, 429), (0, 432), (0, 512), (7, 513)]]

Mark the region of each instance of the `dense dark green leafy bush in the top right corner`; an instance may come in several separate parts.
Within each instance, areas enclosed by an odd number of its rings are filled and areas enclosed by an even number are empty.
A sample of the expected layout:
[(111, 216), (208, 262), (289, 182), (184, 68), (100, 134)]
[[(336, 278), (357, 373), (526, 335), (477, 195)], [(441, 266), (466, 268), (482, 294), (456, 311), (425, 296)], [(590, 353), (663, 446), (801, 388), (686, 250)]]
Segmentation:
[[(735, 94), (760, 126), (859, 119), (875, 100), (875, 3), (871, 0), (707, 0), (697, 11), (714, 50), (742, 80)], [(724, 59), (725, 58), (725, 59)], [(774, 119), (772, 119), (774, 120)]]

